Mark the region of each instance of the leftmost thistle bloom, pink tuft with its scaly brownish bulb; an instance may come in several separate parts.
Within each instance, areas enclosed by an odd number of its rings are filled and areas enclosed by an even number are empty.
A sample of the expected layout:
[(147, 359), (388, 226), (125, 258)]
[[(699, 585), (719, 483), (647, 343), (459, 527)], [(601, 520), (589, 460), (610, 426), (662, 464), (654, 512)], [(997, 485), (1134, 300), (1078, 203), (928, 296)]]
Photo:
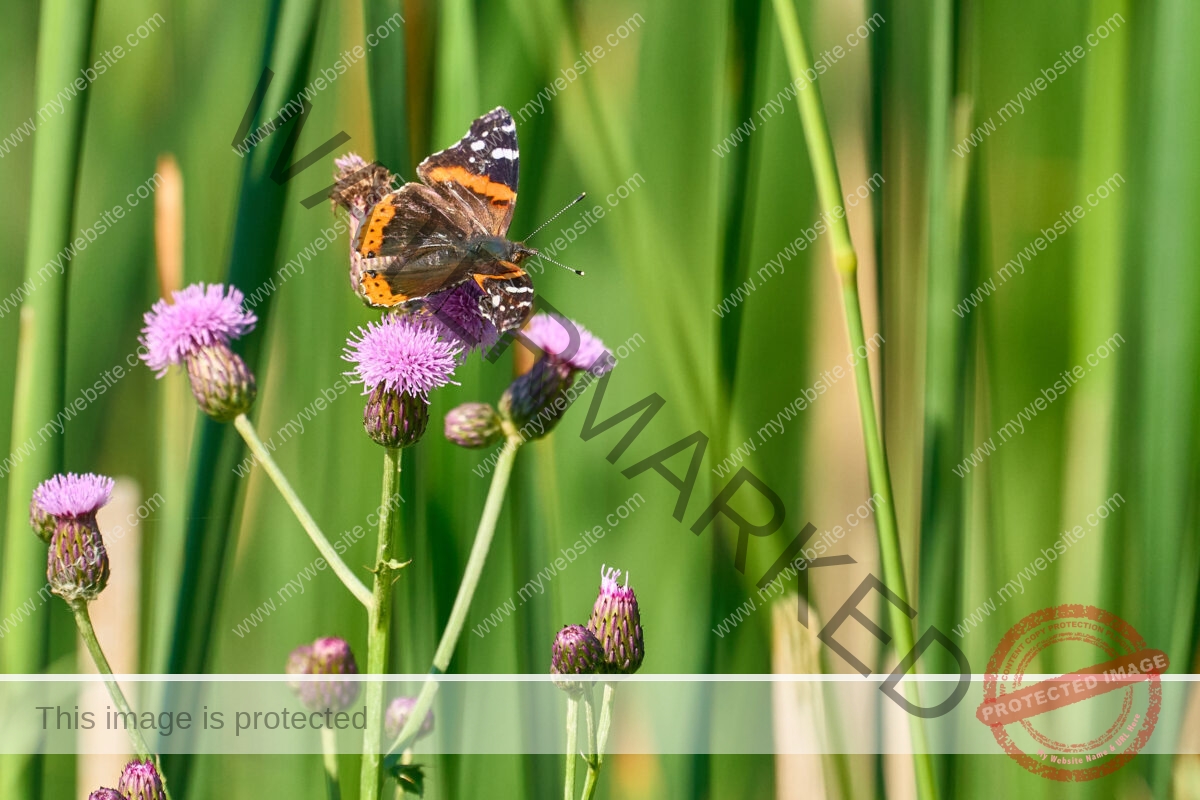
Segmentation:
[(102, 475), (54, 475), (34, 489), (30, 519), (50, 549), (46, 579), (67, 602), (91, 601), (108, 584), (108, 553), (100, 535), (96, 512), (113, 494), (113, 479)]

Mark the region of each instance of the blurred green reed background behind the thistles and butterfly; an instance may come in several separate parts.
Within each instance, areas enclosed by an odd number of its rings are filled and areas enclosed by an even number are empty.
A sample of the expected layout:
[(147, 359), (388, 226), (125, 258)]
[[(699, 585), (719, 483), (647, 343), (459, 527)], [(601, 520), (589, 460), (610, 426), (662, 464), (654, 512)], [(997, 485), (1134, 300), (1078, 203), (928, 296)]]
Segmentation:
[[(90, 7), (53, 5), (76, 22)], [(1200, 8), (1188, 0), (798, 7), (815, 58), (844, 50), (827, 56), (817, 84), (844, 192), (882, 176), (848, 216), (868, 336), (878, 331), (883, 341), (871, 362), (918, 632), (930, 624), (952, 631), (1060, 531), (1087, 527), (1087, 515), (1120, 494), (1120, 507), (1022, 595), (952, 638), (983, 672), (995, 643), (1026, 614), (1094, 603), (1166, 650), (1174, 670), (1193, 670)], [(65, 125), (56, 114), (38, 119), (38, 37), (58, 38), (41, 29), (41, 11), (29, 0), (10, 2), (0, 25), (0, 181), (10, 193), (0, 217), (0, 302), (25, 277), (35, 148)], [(294, 124), (246, 158), (230, 148), (264, 66), (276, 76), (256, 125), (282, 104), (277, 98), (364, 46), (367, 31), (396, 12), (402, 32), (312, 97), (296, 152), (341, 131), (349, 136), (346, 144), (282, 188), (268, 173)], [(869, 18), (882, 23), (847, 47), (847, 35)], [(605, 456), (617, 433), (581, 440), (586, 409), (574, 409), (552, 437), (522, 450), (452, 670), (545, 672), (554, 631), (584, 621), (601, 564), (632, 573), (647, 636), (643, 670), (757, 673), (792, 663), (780, 654), (786, 637), (773, 631), (772, 614), (755, 614), (724, 636), (714, 628), (754, 593), (794, 531), (809, 521), (818, 530), (832, 528), (870, 489), (850, 375), (782, 434), (757, 433), (826, 371), (845, 363), (848, 351), (827, 237), (780, 261), (781, 273), (760, 273), (818, 216), (772, 2), (101, 1), (89, 61), (151, 19), (161, 23), (84, 96), (67, 101), (86, 103), (71, 236), (106, 210), (127, 205), (128, 193), (161, 173), (158, 160), (170, 154), (182, 176), (182, 283), (232, 275), (250, 294), (310, 248), (302, 273), (257, 308), (260, 325), (247, 345), (260, 389), (253, 416), (264, 439), (338, 378), (346, 336), (377, 315), (348, 290), (344, 236), (313, 253), (334, 222), (328, 204), (300, 203), (331, 182), (335, 155), (353, 150), (410, 178), (420, 158), (503, 104), (517, 120), (522, 145), (512, 233), (532, 230), (578, 191), (605, 207), (601, 221), (556, 248), (558, 259), (587, 277), (552, 269), (534, 275), (536, 288), (611, 348), (628, 351), (601, 417), (650, 392), (666, 408), (616, 464)], [(1109, 35), (1090, 46), (1088, 35), (1103, 26)], [(1019, 113), (1010, 106), (1007, 119), (1000, 114), (1076, 44), (1086, 58), (1037, 96), (1026, 95)], [(566, 80), (563, 70), (593, 47), (602, 58)], [(37, 130), (17, 137), (26, 121)], [(1112, 184), (1117, 188), (1091, 205), (1088, 196), (1114, 176), (1121, 179)], [(1076, 205), (1087, 210), (1084, 218), (1034, 249), (1043, 229)], [(536, 241), (548, 247), (577, 218), (569, 212)], [(1026, 247), (1032, 258), (1022, 273), (995, 277)], [(71, 402), (124, 363), (163, 281), (179, 284), (156, 257), (155, 203), (130, 207), (71, 260), (66, 275), (62, 395)], [(960, 305), (989, 279), (996, 285), (976, 295), (977, 306)], [(8, 306), (4, 312), (0, 420), (7, 421), (19, 314)], [(1024, 434), (959, 477), (954, 468), (968, 453), (1063, 371), (1088, 366), (1087, 356), (1115, 335), (1122, 343), (1110, 357), (1027, 421)], [(43, 378), (42, 366), (34, 365), (35, 380)], [(440, 417), (461, 402), (494, 402), (511, 375), (508, 355), (496, 363), (473, 359), (457, 374), (461, 386), (434, 396), (431, 433), (404, 453), (403, 558), (414, 564), (397, 601), (395, 663), (403, 672), (424, 672), (430, 663), (487, 491), (487, 479), (473, 471), (487, 451), (449, 445)], [(620, 470), (695, 431), (709, 444), (696, 492), (677, 522), (673, 488), (653, 473), (626, 479)], [(700, 536), (689, 529), (726, 483), (714, 468), (748, 440), (754, 451), (743, 449), (737, 461), (745, 457), (780, 494), (787, 517), (780, 534), (750, 542), (743, 575), (732, 566), (732, 525), (719, 522)], [(0, 425), (0, 453), (20, 444)], [(173, 626), (190, 648), (174, 663), (187, 663), (188, 672), (281, 672), (292, 648), (334, 634), (346, 637), (362, 662), (365, 614), (329, 572), (245, 626), (314, 553), (264, 475), (239, 480), (230, 473), (244, 453), (230, 434), (196, 420), (181, 375), (156, 383), (145, 368), (130, 371), (66, 423), (61, 446), (62, 468), (128, 479), (133, 506), (156, 493), (163, 499), (138, 527), (142, 602), (124, 609), (136, 639), (127, 668), (168, 669)], [(380, 452), (361, 433), (353, 393), (306, 422), (304, 434), (281, 443), (275, 455), (334, 536), (362, 524), (378, 505)], [(686, 458), (668, 463), (682, 474)], [(193, 507), (190, 498), (205, 475), (209, 488)], [(0, 506), (12, 519), (7, 475), (0, 485)], [(472, 632), (560, 547), (598, 524), (607, 528), (606, 516), (636, 493), (644, 504), (576, 561), (568, 579), (554, 581), (497, 631)], [(745, 500), (738, 504), (746, 516), (764, 513)], [(10, 525), (4, 535), (0, 585), (17, 585), (19, 576), (28, 582), (36, 565), (13, 554), (32, 548), (11, 541), (28, 530)], [(360, 543), (348, 563), (367, 564), (372, 546)], [(869, 524), (836, 552), (858, 565), (816, 573), (820, 619), (836, 610), (868, 570), (877, 572)], [(180, 631), (174, 619), (185, 554), (203, 559), (208, 575), (221, 575), (220, 583), (210, 582), (211, 596), (194, 596), (200, 613), (181, 618), (203, 631)], [(10, 615), (17, 607), (12, 591), (4, 597), (0, 614)], [(38, 609), (25, 625), (48, 625), (48, 648), (44, 657), (23, 651), (22, 658), (41, 662), (37, 668), (76, 668), (74, 628), (62, 603)], [(0, 639), (7, 664), (19, 642)], [(890, 669), (894, 654), (878, 652), (865, 634), (857, 643), (858, 652), (875, 654), (869, 662)], [(828, 650), (820, 666), (850, 672)], [(925, 670), (949, 668), (934, 657), (922, 662)], [(343, 758), (349, 796), (353, 760)], [(1144, 756), (1082, 786), (1037, 778), (1003, 756), (940, 757), (937, 766), (943, 796), (1200, 796), (1193, 762)], [(37, 769), (41, 796), (83, 796), (73, 759), (50, 757)], [(323, 796), (319, 770), (318, 757), (199, 757), (186, 796), (316, 799)], [(557, 757), (443, 757), (431, 768), (428, 796), (557, 796), (560, 770)], [(854, 757), (824, 780), (828, 796), (847, 798), (913, 796), (910, 783), (904, 759), (890, 757)], [(812, 796), (809, 784), (769, 757), (721, 756), (616, 757), (600, 792)]]

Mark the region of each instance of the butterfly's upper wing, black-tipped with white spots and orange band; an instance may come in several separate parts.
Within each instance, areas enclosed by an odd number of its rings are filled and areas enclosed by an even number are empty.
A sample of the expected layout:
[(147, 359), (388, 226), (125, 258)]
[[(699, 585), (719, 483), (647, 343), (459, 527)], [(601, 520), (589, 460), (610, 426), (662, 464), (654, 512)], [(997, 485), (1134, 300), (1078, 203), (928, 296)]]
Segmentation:
[(505, 236), (517, 200), (517, 126), (504, 108), (472, 122), (452, 148), (420, 163), (416, 174), (452, 204), (469, 210), (480, 233)]

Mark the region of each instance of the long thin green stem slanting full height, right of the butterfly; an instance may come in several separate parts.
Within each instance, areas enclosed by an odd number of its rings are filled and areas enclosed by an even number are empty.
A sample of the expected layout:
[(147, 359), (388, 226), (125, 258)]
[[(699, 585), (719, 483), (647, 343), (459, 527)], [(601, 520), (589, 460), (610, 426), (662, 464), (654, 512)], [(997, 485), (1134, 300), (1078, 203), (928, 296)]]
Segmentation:
[[(784, 48), (787, 53), (787, 65), (791, 68), (793, 80), (797, 82), (797, 85), (802, 85), (802, 80), (806, 82), (804, 76), (810, 74), (812, 60), (804, 43), (794, 2), (793, 0), (774, 0), (774, 4)], [(797, 104), (804, 125), (804, 139), (808, 144), (812, 175), (817, 185), (817, 198), (833, 235), (834, 267), (841, 277), (846, 331), (850, 335), (851, 351), (865, 353), (866, 337), (863, 332), (863, 311), (858, 299), (858, 257), (854, 253), (845, 209), (841, 205), (841, 180), (838, 178), (838, 163), (829, 137), (829, 125), (824, 118), (824, 108), (821, 104), (821, 92), (817, 85), (805, 85), (797, 94)], [(866, 447), (866, 469), (870, 475), (871, 491), (878, 493), (882, 499), (876, 511), (876, 530), (880, 539), (883, 577), (888, 588), (907, 602), (908, 584), (905, 581), (904, 559), (900, 552), (900, 533), (895, 503), (892, 498), (892, 476), (888, 471), (883, 438), (880, 435), (875, 396), (871, 391), (870, 362), (866, 359), (858, 359), (854, 365), (854, 384), (858, 390), (858, 410), (863, 422), (863, 440)], [(904, 657), (913, 650), (912, 621), (894, 603), (888, 603), (888, 610), (896, 654)], [(917, 685), (906, 681), (905, 690), (908, 700), (919, 705)], [(934, 800), (937, 796), (937, 784), (934, 778), (934, 762), (926, 746), (925, 728), (917, 716), (910, 715), (908, 722), (912, 733), (917, 795), (922, 800)]]

